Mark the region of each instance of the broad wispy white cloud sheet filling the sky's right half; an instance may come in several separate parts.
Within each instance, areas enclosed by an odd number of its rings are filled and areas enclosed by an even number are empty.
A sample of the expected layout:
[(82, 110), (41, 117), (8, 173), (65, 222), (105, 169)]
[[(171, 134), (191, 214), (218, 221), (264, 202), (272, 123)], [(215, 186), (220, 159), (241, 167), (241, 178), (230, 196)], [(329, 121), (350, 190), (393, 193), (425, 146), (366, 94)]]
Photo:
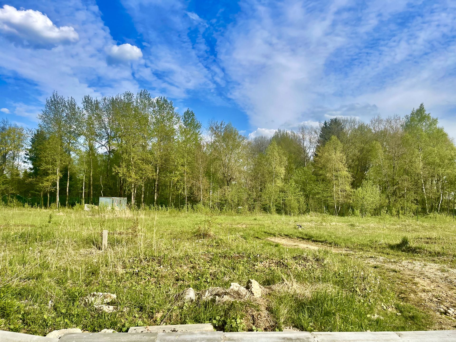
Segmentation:
[(229, 96), (253, 127), (269, 129), (403, 115), (421, 102), (440, 115), (437, 104), (456, 105), (456, 79), (448, 72), (456, 67), (456, 11), (444, 2), (418, 4), (423, 17), (409, 3), (241, 2), (218, 37)]

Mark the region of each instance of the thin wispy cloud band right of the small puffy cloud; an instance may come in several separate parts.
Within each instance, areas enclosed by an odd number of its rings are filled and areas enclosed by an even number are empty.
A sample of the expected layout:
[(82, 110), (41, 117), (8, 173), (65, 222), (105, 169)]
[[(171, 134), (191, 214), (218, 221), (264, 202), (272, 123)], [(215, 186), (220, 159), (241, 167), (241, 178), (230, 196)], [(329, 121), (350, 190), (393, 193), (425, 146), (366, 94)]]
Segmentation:
[[(147, 69), (140, 76), (170, 97), (186, 98), (197, 91), (198, 96), (210, 98), (207, 95), (212, 95), (214, 80), (223, 83), (223, 72), (215, 58), (208, 56), (210, 48), (202, 35), (207, 22), (186, 10), (187, 4), (181, 0), (121, 2), (138, 33), (153, 42), (144, 57)], [(161, 84), (155, 75), (160, 75)]]

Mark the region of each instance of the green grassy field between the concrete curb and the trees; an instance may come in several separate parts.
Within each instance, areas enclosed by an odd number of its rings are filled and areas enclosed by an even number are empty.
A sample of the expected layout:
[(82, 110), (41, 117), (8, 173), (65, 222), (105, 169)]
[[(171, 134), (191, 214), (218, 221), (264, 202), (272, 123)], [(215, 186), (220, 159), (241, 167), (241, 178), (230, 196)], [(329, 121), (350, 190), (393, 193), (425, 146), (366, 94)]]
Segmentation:
[[(109, 248), (101, 251), (103, 229)], [(456, 306), (455, 233), (452, 218), (433, 215), (417, 222), (2, 207), (0, 329), (451, 329), (455, 319), (441, 311)], [(206, 290), (249, 279), (264, 286), (260, 298), (204, 299)], [(188, 287), (194, 302), (179, 297)], [(85, 303), (92, 292), (116, 294), (115, 311)]]

